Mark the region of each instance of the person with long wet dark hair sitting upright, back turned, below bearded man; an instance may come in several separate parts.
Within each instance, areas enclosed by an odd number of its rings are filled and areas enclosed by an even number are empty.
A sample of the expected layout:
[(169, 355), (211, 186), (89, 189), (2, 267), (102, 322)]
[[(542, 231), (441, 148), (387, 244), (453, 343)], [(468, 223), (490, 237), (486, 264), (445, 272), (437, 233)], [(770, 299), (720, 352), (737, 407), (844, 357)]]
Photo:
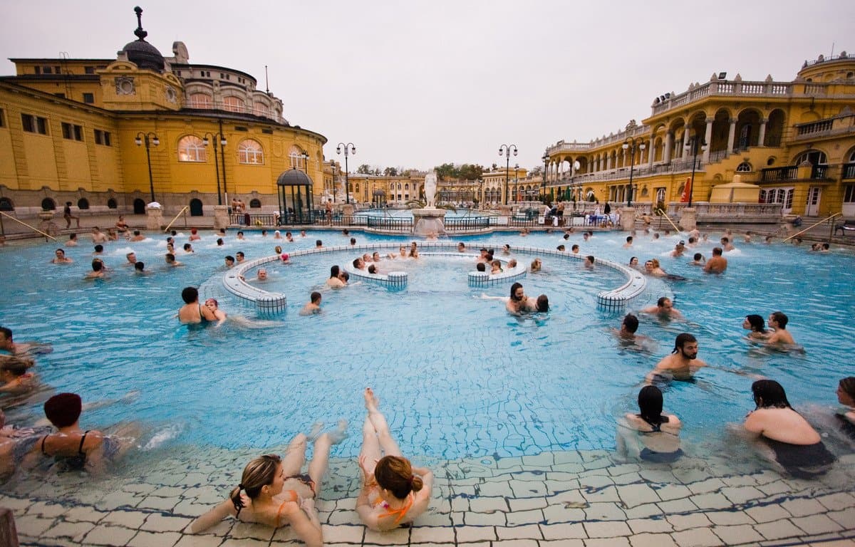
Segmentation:
[[(618, 424), (617, 453), (647, 462), (670, 463), (683, 455), (680, 448), (680, 418), (662, 414), (662, 391), (646, 385), (639, 391), (639, 414), (624, 416)], [(630, 454), (629, 449), (632, 449)]]

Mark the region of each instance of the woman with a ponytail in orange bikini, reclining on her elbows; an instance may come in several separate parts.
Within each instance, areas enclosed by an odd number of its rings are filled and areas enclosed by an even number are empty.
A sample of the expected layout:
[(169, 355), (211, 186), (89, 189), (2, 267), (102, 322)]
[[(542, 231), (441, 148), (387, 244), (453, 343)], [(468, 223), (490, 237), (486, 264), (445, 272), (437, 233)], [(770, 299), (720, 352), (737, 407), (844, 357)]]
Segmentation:
[(273, 526), (291, 525), (298, 538), (309, 547), (321, 547), (321, 522), (315, 510), (315, 495), (327, 472), (329, 448), (345, 438), (346, 421), (339, 429), (315, 439), (315, 453), (309, 462), (309, 473), (300, 473), (306, 457), (307, 438), (294, 437), (286, 456), (266, 454), (244, 468), (240, 484), (224, 502), (193, 521), (193, 533), (203, 532), (231, 515), (243, 522)]

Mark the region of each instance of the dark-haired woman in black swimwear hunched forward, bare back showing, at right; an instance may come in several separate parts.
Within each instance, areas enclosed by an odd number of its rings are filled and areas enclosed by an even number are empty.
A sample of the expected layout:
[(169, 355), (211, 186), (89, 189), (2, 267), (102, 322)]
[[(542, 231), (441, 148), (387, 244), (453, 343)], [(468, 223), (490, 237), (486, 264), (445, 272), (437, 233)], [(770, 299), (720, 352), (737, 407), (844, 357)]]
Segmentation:
[(746, 432), (758, 435), (777, 462), (797, 479), (810, 479), (828, 471), (834, 455), (825, 448), (817, 430), (793, 410), (784, 388), (774, 379), (758, 379), (751, 386), (757, 408), (746, 416)]

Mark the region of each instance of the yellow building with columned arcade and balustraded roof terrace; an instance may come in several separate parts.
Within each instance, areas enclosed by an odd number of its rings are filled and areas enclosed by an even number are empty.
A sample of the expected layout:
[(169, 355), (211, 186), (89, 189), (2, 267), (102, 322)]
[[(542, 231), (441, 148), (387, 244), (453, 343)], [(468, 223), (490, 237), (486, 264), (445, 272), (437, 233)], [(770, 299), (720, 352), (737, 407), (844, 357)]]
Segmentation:
[[(853, 74), (855, 56), (841, 52), (805, 62), (790, 82), (722, 73), (682, 93), (663, 93), (641, 124), (549, 146), (546, 197), (631, 203), (644, 212), (658, 205), (677, 215), (692, 200), (699, 218), (707, 210), (706, 220), (714, 220), (708, 203), (721, 201), (723, 192), (713, 189), (739, 174), (758, 203), (777, 206), (778, 218), (855, 218)], [(745, 221), (763, 220), (762, 208), (755, 209), (758, 216)]]

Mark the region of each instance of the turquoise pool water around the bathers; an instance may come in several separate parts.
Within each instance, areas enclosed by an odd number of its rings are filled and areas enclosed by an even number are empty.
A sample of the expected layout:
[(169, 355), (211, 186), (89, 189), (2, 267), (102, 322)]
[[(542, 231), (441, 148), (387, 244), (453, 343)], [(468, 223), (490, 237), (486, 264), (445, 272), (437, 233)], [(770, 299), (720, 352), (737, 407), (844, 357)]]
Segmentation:
[[(364, 416), (361, 392), (371, 385), (381, 398), (392, 431), (404, 453), (457, 458), (516, 456), (542, 450), (612, 449), (616, 417), (634, 409), (640, 382), (667, 355), (679, 332), (699, 338), (705, 369), (694, 384), (675, 383), (665, 393), (666, 407), (685, 422), (689, 451), (728, 450), (723, 429), (752, 409), (751, 379), (738, 369), (778, 379), (797, 408), (831, 407), (840, 377), (852, 367), (851, 318), (855, 257), (845, 250), (826, 255), (785, 244), (741, 244), (728, 254), (722, 276), (706, 276), (687, 258), (667, 256), (677, 238), (652, 241), (640, 235), (634, 250), (623, 250), (622, 232), (598, 233), (591, 242), (574, 234), (493, 234), (459, 238), (470, 246), (509, 243), (554, 249), (581, 244), (582, 254), (628, 262), (630, 256), (658, 257), (669, 273), (687, 281), (653, 280), (629, 306), (639, 309), (662, 294), (673, 294), (687, 322), (642, 319), (640, 333), (657, 344), (649, 350), (622, 347), (610, 333), (622, 313), (599, 310), (595, 295), (621, 285), (609, 268), (590, 272), (577, 262), (544, 257), (544, 271), (522, 284), (530, 295), (545, 293), (551, 311), (523, 319), (504, 312), (502, 303), (480, 298), (470, 288), (470, 266), (457, 259), (423, 257), (408, 264), (410, 284), (403, 291), (361, 283), (325, 291), (329, 266), (351, 262), (357, 252), (301, 258), (268, 268), (271, 290), (288, 297), (285, 314), (256, 317), (233, 297), (218, 294), (221, 308), (261, 325), (230, 322), (220, 328), (187, 328), (174, 318), (186, 285), (216, 286), (222, 258), (243, 250), (247, 258), (324, 244), (400, 241), (360, 232), (310, 231), (286, 244), (247, 232), (233, 232), (224, 248), (203, 233), (197, 253), (170, 268), (162, 262), (165, 238), (107, 245), (110, 279), (85, 281), (91, 244), (66, 248), (76, 261), (49, 263), (55, 244), (22, 244), (0, 249), (3, 291), (0, 324), (15, 339), (54, 345), (39, 356), (37, 370), (59, 391), (77, 391), (85, 400), (121, 397), (139, 390), (133, 403), (85, 415), (85, 426), (134, 419), (148, 431), (146, 442), (163, 450), (194, 444), (223, 448), (280, 444), (315, 420), (351, 421), (351, 438), (333, 456), (359, 450)], [(712, 234), (711, 240), (717, 240)], [(179, 244), (186, 234), (176, 238)], [(177, 245), (180, 247), (180, 245)], [(701, 247), (709, 256), (711, 244)], [(152, 271), (137, 277), (121, 266), (134, 250)], [(530, 262), (533, 256), (516, 256)], [(392, 264), (381, 263), (385, 271)], [(320, 316), (302, 317), (310, 291), (323, 293)], [(486, 290), (506, 296), (510, 285)], [(745, 315), (781, 309), (805, 354), (769, 353), (748, 344), (741, 329)], [(253, 327), (254, 326), (254, 327)], [(38, 414), (37, 405), (9, 412), (9, 421)], [(152, 440), (154, 439), (154, 440)]]

